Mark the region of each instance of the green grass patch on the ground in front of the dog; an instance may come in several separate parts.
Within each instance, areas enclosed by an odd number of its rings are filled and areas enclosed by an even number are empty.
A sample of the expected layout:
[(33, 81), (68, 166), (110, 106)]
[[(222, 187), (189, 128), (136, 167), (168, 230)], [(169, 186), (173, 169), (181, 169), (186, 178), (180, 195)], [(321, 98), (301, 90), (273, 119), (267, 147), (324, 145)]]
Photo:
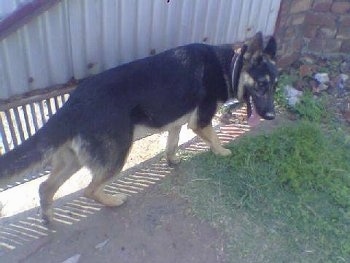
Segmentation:
[(188, 155), (177, 191), (227, 236), (230, 262), (350, 262), (350, 136), (300, 121)]

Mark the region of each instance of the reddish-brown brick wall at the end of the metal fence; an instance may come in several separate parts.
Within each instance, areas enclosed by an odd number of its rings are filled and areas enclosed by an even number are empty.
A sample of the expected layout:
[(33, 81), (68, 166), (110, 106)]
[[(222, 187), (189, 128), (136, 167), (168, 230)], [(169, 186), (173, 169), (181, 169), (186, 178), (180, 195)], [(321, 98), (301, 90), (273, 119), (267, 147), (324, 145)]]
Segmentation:
[(303, 53), (350, 55), (350, 0), (282, 0), (275, 35), (281, 67)]

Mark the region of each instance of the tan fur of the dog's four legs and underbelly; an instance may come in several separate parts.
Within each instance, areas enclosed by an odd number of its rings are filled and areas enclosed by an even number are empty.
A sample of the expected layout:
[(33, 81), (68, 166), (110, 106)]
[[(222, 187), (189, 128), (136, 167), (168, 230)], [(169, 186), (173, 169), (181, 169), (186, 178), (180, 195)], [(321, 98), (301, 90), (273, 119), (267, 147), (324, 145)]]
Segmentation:
[[(231, 154), (230, 150), (220, 145), (220, 140), (212, 126), (209, 125), (204, 128), (197, 127), (197, 109), (159, 129), (138, 125), (134, 129), (133, 140), (138, 140), (150, 134), (168, 131), (168, 140), (165, 150), (166, 158), (170, 165), (175, 165), (180, 161), (176, 157), (176, 149), (179, 142), (181, 126), (185, 123), (188, 123), (188, 127), (208, 143), (215, 154), (223, 156)], [(91, 160), (90, 155), (84, 150), (86, 146), (86, 142), (82, 138), (76, 137), (72, 141), (62, 145), (53, 154), (53, 169), (51, 175), (40, 186), (42, 216), (46, 222), (52, 219), (51, 206), (53, 197), (58, 188), (87, 163), (89, 164), (88, 168), (91, 170), (93, 178), (84, 191), (86, 197), (94, 199), (106, 206), (119, 206), (126, 201), (126, 195), (116, 194), (112, 196), (104, 193), (104, 187), (120, 172), (124, 163), (114, 171), (109, 171), (105, 167), (94, 165), (94, 160)], [(111, 148), (113, 149), (113, 147)], [(113, 152), (109, 153), (111, 156), (114, 154)]]

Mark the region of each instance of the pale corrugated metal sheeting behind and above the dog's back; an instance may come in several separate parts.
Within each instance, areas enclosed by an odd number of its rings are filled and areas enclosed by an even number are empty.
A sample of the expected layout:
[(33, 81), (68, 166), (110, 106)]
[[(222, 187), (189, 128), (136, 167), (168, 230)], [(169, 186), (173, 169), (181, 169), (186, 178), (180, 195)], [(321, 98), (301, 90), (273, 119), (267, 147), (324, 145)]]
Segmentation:
[[(1, 1), (10, 10), (25, 0)], [(181, 44), (272, 34), (280, 1), (62, 0), (0, 42), (0, 98)]]

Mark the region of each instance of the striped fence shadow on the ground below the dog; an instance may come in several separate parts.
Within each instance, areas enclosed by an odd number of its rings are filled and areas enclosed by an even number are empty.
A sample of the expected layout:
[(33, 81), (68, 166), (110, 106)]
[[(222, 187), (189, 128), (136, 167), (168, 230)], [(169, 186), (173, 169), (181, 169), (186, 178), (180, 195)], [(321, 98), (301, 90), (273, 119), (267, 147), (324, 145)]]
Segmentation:
[[(228, 143), (249, 131), (249, 126), (243, 124), (228, 124), (217, 126), (218, 135), (223, 143)], [(201, 153), (208, 150), (208, 146), (199, 138), (184, 143), (181, 151)], [(135, 196), (150, 186), (156, 185), (174, 172), (174, 168), (166, 164), (162, 153), (131, 167), (121, 173), (121, 177), (106, 186), (105, 191), (110, 194), (123, 193)], [(181, 165), (181, 164), (180, 164)], [(80, 221), (99, 213), (102, 205), (82, 196), (78, 191), (60, 198), (54, 203), (54, 224), (73, 227)], [(39, 216), (39, 208), (16, 214), (9, 218), (0, 218), (0, 256), (14, 251), (29, 242), (54, 234), (57, 228), (43, 225)]]

